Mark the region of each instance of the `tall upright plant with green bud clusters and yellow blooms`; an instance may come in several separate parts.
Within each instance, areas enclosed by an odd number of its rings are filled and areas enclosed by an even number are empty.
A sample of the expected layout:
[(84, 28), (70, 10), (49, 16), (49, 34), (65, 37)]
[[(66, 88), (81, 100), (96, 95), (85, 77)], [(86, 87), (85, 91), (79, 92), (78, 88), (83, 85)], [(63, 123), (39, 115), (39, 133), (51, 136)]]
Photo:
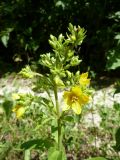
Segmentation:
[[(40, 97), (40, 104), (44, 107), (47, 106), (48, 114), (55, 122), (57, 133), (57, 138), (54, 138), (54, 144), (48, 151), (49, 160), (66, 159), (62, 144), (63, 134), (65, 134), (63, 120), (71, 109), (75, 114), (81, 114), (82, 108), (90, 99), (88, 72), (80, 74), (80, 71), (76, 73), (70, 71), (71, 67), (79, 65), (81, 62), (75, 52), (76, 47), (82, 44), (86, 32), (80, 26), (76, 27), (71, 23), (68, 30), (69, 33), (66, 33), (66, 37), (62, 34), (58, 38), (50, 35), (49, 44), (52, 52), (42, 54), (39, 60), (39, 63), (47, 68), (46, 74), (35, 73), (29, 66), (20, 72), (26, 78), (33, 79), (37, 76), (40, 89), (47, 93), (47, 98)], [(62, 103), (60, 103), (59, 91), (62, 91)], [(17, 105), (13, 111), (19, 118), (24, 114), (25, 109)]]

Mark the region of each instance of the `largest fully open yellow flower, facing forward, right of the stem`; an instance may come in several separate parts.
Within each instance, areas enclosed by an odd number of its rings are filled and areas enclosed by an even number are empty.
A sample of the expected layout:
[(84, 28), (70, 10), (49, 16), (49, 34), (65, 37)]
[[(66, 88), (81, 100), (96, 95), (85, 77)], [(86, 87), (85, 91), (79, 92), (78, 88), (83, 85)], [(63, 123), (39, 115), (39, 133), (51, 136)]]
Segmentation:
[(76, 114), (80, 114), (82, 105), (89, 101), (89, 96), (84, 94), (79, 86), (72, 87), (70, 91), (65, 91), (63, 98), (67, 104), (63, 110), (71, 108)]

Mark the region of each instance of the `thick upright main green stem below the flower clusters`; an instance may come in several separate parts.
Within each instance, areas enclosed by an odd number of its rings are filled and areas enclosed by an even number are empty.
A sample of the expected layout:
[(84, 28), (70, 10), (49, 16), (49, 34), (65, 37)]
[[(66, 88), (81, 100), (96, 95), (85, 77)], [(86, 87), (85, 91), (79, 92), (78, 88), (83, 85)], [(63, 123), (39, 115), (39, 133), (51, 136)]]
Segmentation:
[(61, 135), (61, 117), (60, 117), (60, 107), (58, 102), (58, 89), (57, 85), (54, 86), (54, 95), (55, 95), (55, 102), (56, 102), (56, 111), (57, 111), (57, 125), (58, 125), (58, 150), (61, 150), (62, 145), (62, 135)]

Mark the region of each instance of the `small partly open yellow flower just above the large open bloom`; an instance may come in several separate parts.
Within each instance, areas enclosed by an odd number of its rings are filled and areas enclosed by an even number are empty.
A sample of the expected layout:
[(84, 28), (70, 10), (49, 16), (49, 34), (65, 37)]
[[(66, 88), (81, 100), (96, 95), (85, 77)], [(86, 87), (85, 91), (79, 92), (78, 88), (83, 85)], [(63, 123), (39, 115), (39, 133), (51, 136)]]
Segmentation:
[(82, 73), (80, 75), (79, 83), (81, 86), (87, 86), (90, 84), (90, 79), (87, 78), (88, 78), (88, 72)]

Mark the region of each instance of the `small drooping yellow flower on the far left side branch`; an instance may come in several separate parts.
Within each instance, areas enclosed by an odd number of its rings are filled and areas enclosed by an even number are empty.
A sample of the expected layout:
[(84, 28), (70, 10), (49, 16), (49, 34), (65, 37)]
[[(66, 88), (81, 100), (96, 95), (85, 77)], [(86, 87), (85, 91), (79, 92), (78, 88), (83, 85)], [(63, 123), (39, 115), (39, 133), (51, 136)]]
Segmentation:
[(17, 118), (20, 118), (25, 113), (25, 107), (16, 105), (12, 111), (16, 113)]

